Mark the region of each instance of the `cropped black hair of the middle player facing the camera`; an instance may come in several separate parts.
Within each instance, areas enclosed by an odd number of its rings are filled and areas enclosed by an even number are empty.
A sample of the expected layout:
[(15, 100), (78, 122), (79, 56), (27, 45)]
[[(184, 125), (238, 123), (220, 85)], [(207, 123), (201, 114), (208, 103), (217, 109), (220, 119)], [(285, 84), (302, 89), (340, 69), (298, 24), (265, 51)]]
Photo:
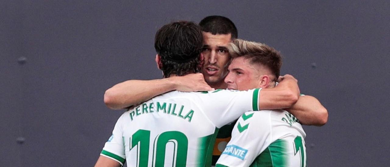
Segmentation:
[(207, 16), (199, 22), (202, 31), (216, 34), (231, 34), (232, 39), (238, 38), (236, 25), (227, 17)]

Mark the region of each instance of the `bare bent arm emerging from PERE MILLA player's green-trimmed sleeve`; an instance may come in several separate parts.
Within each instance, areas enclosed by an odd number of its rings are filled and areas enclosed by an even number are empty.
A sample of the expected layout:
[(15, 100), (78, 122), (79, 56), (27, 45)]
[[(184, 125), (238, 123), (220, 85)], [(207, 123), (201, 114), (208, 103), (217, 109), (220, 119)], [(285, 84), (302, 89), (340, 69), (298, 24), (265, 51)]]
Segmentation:
[(292, 75), (285, 75), (276, 87), (261, 90), (259, 109), (290, 108), (298, 101), (299, 94), (298, 81)]

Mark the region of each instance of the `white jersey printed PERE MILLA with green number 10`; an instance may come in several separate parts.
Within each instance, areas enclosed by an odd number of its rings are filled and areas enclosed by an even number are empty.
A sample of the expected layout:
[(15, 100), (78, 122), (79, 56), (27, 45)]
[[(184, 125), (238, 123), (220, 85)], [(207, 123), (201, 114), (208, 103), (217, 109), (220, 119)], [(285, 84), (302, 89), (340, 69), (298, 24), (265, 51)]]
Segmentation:
[(260, 90), (156, 96), (119, 117), (101, 155), (128, 167), (210, 166), (218, 128), (258, 110)]

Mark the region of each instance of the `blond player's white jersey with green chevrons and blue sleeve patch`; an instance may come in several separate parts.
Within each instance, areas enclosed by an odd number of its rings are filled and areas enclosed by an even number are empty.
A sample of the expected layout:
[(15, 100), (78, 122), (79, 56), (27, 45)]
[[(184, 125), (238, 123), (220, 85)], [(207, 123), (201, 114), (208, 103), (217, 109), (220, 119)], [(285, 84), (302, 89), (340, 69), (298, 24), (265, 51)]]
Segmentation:
[(246, 112), (216, 167), (305, 167), (306, 133), (285, 110)]

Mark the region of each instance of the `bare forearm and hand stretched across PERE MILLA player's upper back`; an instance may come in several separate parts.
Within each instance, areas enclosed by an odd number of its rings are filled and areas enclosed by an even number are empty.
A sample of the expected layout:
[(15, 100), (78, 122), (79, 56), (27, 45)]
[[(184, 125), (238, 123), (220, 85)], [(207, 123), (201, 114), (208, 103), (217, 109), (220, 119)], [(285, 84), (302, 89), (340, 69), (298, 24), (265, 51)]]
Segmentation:
[(104, 94), (104, 103), (108, 108), (122, 109), (173, 90), (192, 92), (213, 89), (206, 84), (201, 73), (158, 80), (128, 80), (108, 89)]

